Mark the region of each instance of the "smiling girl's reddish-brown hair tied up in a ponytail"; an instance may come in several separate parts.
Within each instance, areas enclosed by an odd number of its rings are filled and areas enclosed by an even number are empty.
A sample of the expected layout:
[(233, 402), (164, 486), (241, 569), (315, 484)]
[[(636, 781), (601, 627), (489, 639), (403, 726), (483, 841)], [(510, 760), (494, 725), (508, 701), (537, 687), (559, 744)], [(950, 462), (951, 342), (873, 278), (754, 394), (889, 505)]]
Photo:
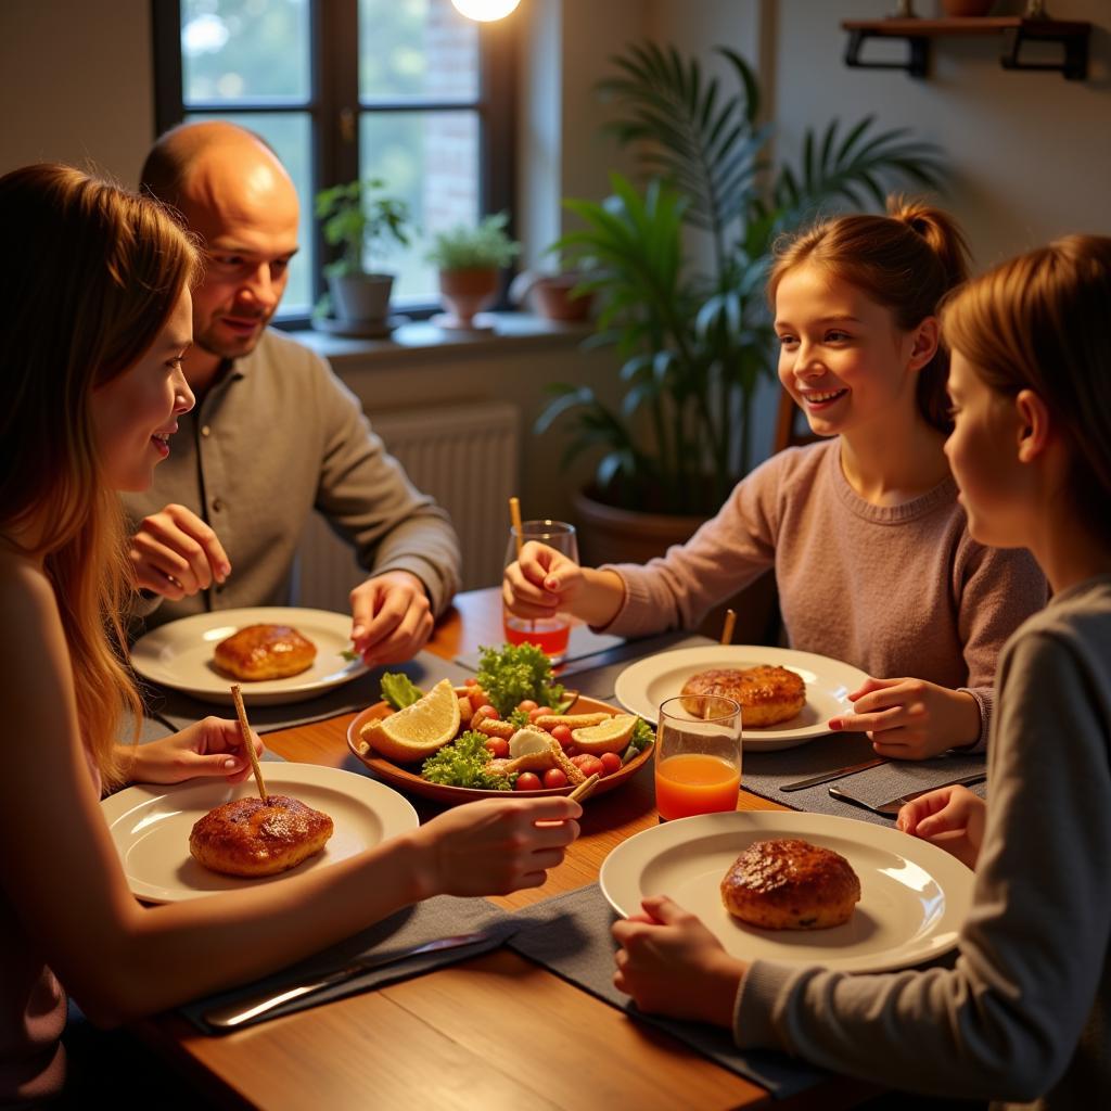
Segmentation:
[[(887, 216), (824, 220), (779, 247), (768, 296), (795, 267), (814, 262), (890, 309), (895, 327), (917, 328), (938, 311), (942, 298), (968, 277), (968, 247), (951, 216), (922, 201), (888, 198)], [(945, 380), (949, 353), (939, 347), (919, 371), (915, 398), (923, 420), (952, 429)]]

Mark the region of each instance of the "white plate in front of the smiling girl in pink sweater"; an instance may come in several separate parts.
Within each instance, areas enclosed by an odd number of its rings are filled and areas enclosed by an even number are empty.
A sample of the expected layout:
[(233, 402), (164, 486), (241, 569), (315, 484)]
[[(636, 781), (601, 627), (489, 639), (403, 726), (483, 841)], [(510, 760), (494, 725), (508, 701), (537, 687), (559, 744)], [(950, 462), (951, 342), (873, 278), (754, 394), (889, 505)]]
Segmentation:
[(630, 663), (618, 675), (614, 695), (630, 713), (654, 722), (660, 703), (680, 694), (683, 683), (695, 672), (709, 668), (754, 668), (760, 663), (800, 674), (807, 684), (807, 703), (797, 717), (779, 725), (753, 729), (742, 721), (745, 752), (789, 749), (828, 733), (825, 722), (830, 718), (853, 712), (849, 692), (868, 678), (859, 668), (814, 652), (760, 644), (707, 644), (659, 652)]

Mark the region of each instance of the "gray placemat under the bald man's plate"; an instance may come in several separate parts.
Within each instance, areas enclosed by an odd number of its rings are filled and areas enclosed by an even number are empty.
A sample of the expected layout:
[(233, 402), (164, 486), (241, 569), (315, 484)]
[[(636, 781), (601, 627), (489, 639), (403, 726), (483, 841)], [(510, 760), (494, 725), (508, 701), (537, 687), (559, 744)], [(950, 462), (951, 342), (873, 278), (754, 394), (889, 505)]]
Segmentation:
[[(418, 652), (407, 663), (391, 663), (382, 668), (373, 668), (358, 679), (327, 691), (318, 698), (304, 702), (284, 702), (280, 705), (252, 705), (247, 702), (247, 712), (251, 727), (258, 733), (270, 733), (279, 729), (290, 729), (293, 725), (308, 725), (316, 721), (326, 721), (341, 713), (353, 713), (364, 710), (380, 699), (379, 687), (387, 671), (404, 672), (418, 687), (428, 690), (441, 679), (450, 679), (452, 683), (462, 683), (469, 672), (448, 660), (433, 655), (431, 652)], [(147, 712), (173, 729), (184, 729), (194, 721), (200, 721), (209, 714), (219, 718), (234, 718), (236, 711), (230, 705), (217, 702), (202, 702), (190, 698), (181, 691), (144, 684), (144, 702)]]

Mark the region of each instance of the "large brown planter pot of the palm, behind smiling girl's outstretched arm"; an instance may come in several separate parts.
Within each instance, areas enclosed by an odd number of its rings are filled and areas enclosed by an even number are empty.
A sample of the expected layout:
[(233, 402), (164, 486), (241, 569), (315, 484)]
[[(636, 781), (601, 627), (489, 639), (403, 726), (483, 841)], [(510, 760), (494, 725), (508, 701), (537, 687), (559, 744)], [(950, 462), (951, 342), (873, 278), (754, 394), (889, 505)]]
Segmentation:
[[(579, 526), (579, 556), (587, 567), (598, 567), (600, 563), (647, 563), (650, 559), (662, 556), (672, 544), (685, 543), (704, 521), (701, 517), (641, 513), (638, 510), (607, 506), (588, 491), (572, 494), (571, 504)], [(779, 602), (775, 577), (771, 571), (710, 610), (697, 631), (717, 640), (721, 635), (727, 609), (737, 612), (734, 643), (779, 642)]]

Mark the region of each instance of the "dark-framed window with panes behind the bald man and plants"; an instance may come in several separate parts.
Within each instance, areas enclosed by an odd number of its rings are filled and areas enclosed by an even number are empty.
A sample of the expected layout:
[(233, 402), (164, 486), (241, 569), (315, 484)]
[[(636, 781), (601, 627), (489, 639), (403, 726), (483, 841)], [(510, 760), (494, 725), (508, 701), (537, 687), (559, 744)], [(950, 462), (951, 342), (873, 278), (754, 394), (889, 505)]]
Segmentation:
[[(436, 303), (433, 232), (511, 209), (513, 28), (450, 0), (152, 0), (157, 123), (224, 119), (277, 151), (301, 198), (280, 310), (307, 320), (327, 250), (313, 196), (357, 177), (404, 200), (416, 234), (376, 269), (393, 303)], [(384, 263), (384, 264), (383, 264)]]

